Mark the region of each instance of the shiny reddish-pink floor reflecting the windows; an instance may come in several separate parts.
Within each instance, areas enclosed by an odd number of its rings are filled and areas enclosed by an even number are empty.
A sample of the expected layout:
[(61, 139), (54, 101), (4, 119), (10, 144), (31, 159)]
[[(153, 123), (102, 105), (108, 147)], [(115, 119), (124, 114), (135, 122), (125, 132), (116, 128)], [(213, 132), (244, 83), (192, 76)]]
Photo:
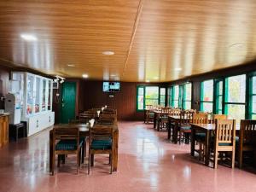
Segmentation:
[[(189, 155), (189, 145), (166, 140), (141, 122), (119, 123), (119, 170), (108, 174), (107, 156), (96, 156), (90, 176), (86, 165), (75, 174), (74, 159), (48, 172), (49, 131), (0, 149), (0, 191), (88, 192), (253, 192), (256, 174), (218, 166), (213, 170)], [(70, 160), (71, 159), (71, 160)]]

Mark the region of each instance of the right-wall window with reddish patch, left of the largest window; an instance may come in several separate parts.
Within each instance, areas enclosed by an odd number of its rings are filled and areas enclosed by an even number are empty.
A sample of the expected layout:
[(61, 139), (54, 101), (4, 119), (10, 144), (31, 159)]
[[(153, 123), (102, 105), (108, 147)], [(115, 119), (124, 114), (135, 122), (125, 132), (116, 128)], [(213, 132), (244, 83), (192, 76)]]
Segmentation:
[(213, 80), (201, 82), (201, 111), (212, 112), (213, 107)]

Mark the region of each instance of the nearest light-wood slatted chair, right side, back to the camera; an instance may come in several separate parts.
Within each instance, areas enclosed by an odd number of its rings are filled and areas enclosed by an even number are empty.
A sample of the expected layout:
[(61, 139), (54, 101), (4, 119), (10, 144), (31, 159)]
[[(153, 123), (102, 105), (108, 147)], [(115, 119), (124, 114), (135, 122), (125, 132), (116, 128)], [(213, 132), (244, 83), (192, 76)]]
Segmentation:
[(216, 122), (214, 143), (210, 144), (210, 151), (213, 152), (213, 168), (218, 166), (218, 154), (231, 152), (231, 167), (235, 166), (236, 150), (236, 120), (218, 119)]

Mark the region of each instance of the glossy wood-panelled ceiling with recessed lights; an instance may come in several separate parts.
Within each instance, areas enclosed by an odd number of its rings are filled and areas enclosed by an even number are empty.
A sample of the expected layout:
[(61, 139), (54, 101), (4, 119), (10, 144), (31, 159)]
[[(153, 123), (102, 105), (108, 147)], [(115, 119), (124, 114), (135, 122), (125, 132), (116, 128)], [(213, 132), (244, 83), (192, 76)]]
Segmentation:
[(1, 1), (0, 64), (73, 78), (182, 79), (255, 59), (255, 10), (255, 0)]

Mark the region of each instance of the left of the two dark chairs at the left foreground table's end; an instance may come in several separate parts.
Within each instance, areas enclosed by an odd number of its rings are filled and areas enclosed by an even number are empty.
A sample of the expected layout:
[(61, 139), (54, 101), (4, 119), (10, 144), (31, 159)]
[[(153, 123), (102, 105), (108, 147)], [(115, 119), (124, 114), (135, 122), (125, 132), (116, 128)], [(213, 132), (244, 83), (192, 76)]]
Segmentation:
[(54, 128), (53, 130), (53, 158), (52, 175), (55, 174), (55, 155), (58, 155), (58, 167), (60, 166), (61, 155), (77, 155), (77, 174), (80, 166), (80, 153), (84, 141), (79, 137), (79, 128)]

